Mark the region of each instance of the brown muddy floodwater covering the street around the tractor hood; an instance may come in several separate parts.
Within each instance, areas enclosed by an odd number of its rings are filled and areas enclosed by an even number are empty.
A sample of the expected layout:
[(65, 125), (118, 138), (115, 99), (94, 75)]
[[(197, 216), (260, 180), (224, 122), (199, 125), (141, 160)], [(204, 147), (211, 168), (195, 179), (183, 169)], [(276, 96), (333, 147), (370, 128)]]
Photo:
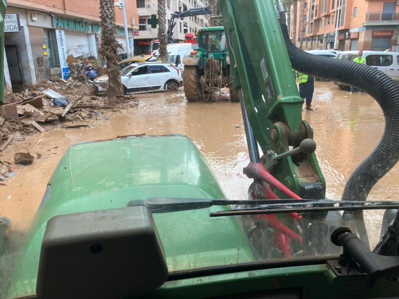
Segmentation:
[[(331, 82), (316, 82), (312, 107), (302, 117), (314, 128), (317, 157), (327, 182), (327, 197), (341, 198), (345, 182), (355, 167), (375, 148), (384, 130), (380, 107), (367, 94), (350, 95)], [(127, 111), (104, 111), (91, 128), (44, 132), (15, 144), (0, 156), (13, 162), (13, 153), (24, 146), (41, 154), (33, 164), (16, 169), (17, 174), (0, 186), (0, 215), (14, 229), (25, 230), (39, 206), (46, 184), (65, 150), (79, 141), (117, 136), (180, 133), (189, 136), (213, 169), (228, 198), (247, 198), (251, 180), (242, 174), (249, 162), (239, 103), (227, 101), (188, 103), (183, 89), (176, 93), (138, 95), (140, 107)], [(106, 117), (110, 117), (106, 120)], [(95, 158), (95, 157), (93, 157)], [(397, 199), (399, 168), (392, 169), (373, 188), (370, 200)], [(376, 244), (383, 211), (367, 211), (367, 227)]]

